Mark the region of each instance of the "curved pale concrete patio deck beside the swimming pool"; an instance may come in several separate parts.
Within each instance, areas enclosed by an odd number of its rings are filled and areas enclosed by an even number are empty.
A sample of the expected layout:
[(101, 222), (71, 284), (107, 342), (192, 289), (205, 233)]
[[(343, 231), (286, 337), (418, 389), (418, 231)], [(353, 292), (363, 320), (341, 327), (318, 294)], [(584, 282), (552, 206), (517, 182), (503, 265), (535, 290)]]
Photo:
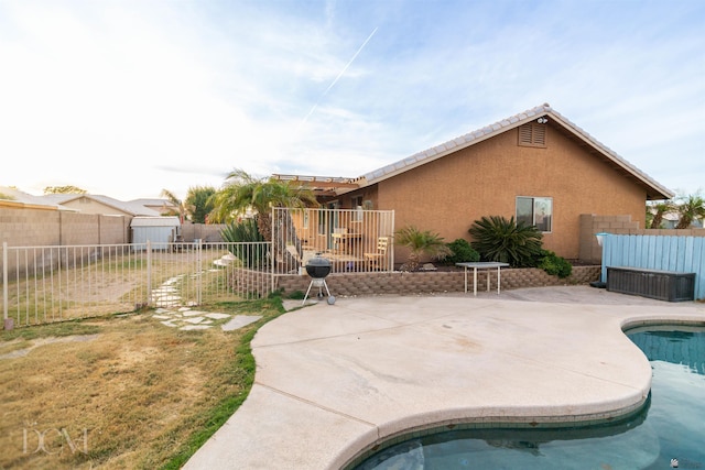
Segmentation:
[(651, 383), (622, 326), (661, 319), (705, 324), (705, 304), (571, 286), (310, 305), (260, 329), (250, 395), (185, 468), (338, 469), (410, 429), (620, 416)]

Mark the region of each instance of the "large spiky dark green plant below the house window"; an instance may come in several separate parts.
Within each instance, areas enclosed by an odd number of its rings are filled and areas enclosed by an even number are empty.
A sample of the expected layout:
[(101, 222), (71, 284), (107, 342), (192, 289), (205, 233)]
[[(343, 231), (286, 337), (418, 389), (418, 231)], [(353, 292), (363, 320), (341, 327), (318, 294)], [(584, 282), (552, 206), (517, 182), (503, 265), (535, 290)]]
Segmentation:
[(511, 217), (490, 216), (476, 220), (468, 230), (470, 245), (486, 261), (509, 263), (513, 267), (533, 266), (541, 255), (541, 232), (535, 226)]

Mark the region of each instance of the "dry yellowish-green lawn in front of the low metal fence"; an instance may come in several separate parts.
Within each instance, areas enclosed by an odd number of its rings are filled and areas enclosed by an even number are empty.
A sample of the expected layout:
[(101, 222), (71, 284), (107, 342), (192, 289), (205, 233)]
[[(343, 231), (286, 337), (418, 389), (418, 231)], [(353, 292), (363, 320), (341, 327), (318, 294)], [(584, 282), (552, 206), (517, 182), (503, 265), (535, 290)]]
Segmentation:
[(283, 313), (278, 297), (207, 309), (263, 318), (182, 331), (143, 310), (2, 331), (0, 469), (183, 466), (247, 397), (250, 340)]

